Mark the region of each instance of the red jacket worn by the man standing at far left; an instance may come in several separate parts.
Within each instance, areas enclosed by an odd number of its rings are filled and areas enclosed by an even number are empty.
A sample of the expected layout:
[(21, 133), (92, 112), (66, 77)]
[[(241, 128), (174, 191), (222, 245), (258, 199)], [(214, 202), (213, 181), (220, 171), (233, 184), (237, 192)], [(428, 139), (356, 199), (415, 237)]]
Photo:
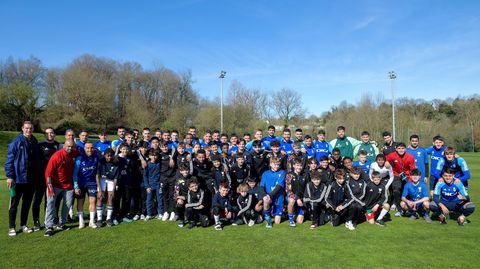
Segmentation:
[[(67, 154), (64, 149), (55, 152), (47, 164), (45, 180), (50, 177), (54, 188), (73, 189), (73, 167), (77, 156), (77, 150), (72, 150), (70, 154)], [(48, 184), (48, 180), (46, 183)]]

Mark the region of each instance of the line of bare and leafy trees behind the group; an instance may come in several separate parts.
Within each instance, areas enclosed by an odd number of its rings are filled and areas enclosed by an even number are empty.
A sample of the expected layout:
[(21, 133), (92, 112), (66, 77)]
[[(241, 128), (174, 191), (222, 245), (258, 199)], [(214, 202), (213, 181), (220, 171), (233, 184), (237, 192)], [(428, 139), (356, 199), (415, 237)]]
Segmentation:
[[(0, 62), (0, 129), (18, 130), (24, 120), (37, 128), (52, 126), (113, 131), (116, 126), (218, 129), (220, 100), (207, 99), (194, 88), (192, 72), (166, 67), (147, 70), (136, 62), (82, 55), (64, 68), (47, 68), (35, 57)], [(334, 138), (338, 125), (358, 137), (368, 130), (381, 141), (391, 131), (391, 103), (382, 94), (366, 94), (358, 104), (342, 102), (322, 115), (306, 116), (301, 95), (283, 88), (265, 92), (232, 81), (224, 103), (224, 129), (243, 134), (268, 125), (325, 129)], [(459, 151), (480, 149), (480, 97), (455, 99), (402, 98), (396, 102), (397, 139), (416, 133), (423, 144), (441, 134)]]

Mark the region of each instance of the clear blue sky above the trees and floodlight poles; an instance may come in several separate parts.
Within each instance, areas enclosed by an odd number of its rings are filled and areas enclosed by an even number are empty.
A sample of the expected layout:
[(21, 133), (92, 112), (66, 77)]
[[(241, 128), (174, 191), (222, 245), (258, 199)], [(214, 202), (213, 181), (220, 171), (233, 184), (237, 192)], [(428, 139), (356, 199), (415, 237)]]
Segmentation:
[(65, 67), (84, 53), (146, 69), (191, 69), (201, 96), (218, 73), (302, 94), (320, 114), (363, 94), (427, 100), (480, 93), (480, 1), (0, 2), (0, 59)]

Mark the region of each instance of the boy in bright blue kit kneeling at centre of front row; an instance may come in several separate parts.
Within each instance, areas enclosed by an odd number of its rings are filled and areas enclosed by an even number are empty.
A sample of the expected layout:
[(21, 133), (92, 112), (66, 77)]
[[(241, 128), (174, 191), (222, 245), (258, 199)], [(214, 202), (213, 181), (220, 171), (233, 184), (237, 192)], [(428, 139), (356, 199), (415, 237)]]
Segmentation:
[(271, 212), (275, 216), (275, 224), (282, 221), (283, 201), (285, 193), (285, 171), (280, 169), (280, 160), (270, 160), (270, 170), (262, 175), (260, 186), (265, 191), (263, 196), (263, 213), (267, 228), (272, 228)]

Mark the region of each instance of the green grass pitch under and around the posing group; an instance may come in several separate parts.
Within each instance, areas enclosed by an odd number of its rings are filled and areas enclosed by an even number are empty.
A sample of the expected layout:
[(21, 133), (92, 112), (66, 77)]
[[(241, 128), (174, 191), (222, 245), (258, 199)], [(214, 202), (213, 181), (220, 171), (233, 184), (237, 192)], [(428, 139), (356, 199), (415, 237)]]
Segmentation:
[[(7, 143), (15, 135), (0, 132), (2, 166)], [(473, 175), (471, 198), (479, 205), (480, 154), (461, 155)], [(330, 224), (311, 231), (309, 222), (296, 228), (282, 223), (270, 230), (255, 225), (215, 231), (152, 220), (96, 230), (73, 228), (51, 238), (43, 231), (11, 238), (1, 170), (0, 268), (479, 268), (478, 212), (464, 227), (454, 220), (440, 225), (393, 217), (385, 228), (361, 224), (356, 231)]]

